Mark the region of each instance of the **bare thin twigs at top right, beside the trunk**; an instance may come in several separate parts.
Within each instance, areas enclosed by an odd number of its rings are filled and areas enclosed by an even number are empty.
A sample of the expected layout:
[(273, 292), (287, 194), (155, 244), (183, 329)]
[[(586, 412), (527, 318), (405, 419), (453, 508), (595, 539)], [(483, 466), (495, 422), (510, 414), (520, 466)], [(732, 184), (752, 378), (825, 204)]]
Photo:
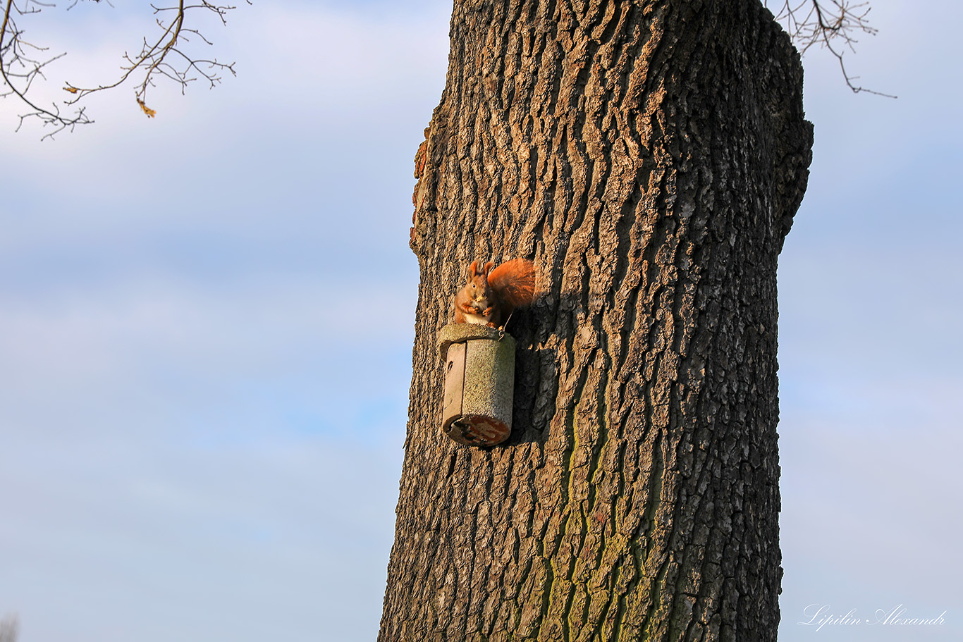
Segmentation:
[[(846, 81), (846, 87), (854, 93), (866, 91), (877, 96), (896, 98), (890, 93), (868, 90), (855, 81), (859, 76), (852, 76), (846, 70), (843, 56), (846, 50), (855, 53), (855, 44), (859, 41), (859, 34), (876, 35), (876, 29), (870, 26), (867, 16), (870, 13), (869, 2), (852, 2), (851, 0), (779, 0), (781, 6), (776, 13), (776, 20), (783, 23), (786, 32), (793, 39), (800, 54), (805, 54), (813, 45), (819, 45), (829, 50), (839, 62), (840, 71)], [(763, 0), (769, 7), (769, 0)], [(775, 4), (773, 0), (772, 4)]]

